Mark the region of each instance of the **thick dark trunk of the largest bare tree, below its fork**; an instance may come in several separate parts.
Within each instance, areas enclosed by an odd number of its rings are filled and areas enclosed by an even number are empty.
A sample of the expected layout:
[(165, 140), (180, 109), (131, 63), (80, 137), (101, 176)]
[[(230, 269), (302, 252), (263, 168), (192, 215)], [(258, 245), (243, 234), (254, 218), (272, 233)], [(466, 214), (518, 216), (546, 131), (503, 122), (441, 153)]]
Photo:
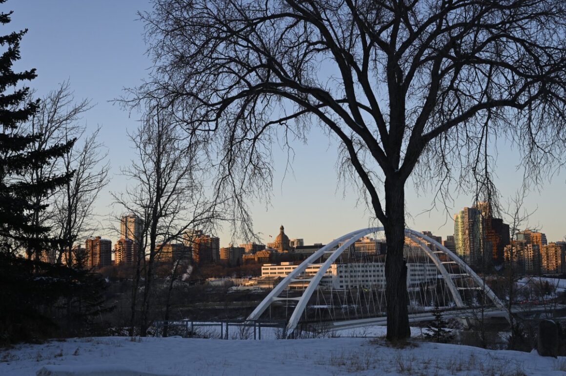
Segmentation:
[(409, 338), (409, 312), (407, 309), (407, 266), (403, 257), (405, 245), (405, 187), (401, 179), (385, 179), (385, 301), (387, 303), (387, 339)]

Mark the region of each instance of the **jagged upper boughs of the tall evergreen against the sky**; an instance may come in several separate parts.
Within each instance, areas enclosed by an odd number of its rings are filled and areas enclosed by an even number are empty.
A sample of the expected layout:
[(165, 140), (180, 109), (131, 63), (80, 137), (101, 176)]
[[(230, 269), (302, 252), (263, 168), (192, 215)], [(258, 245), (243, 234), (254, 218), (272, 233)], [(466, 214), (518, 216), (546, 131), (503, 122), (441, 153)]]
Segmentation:
[[(0, 12), (0, 24), (10, 23), (11, 14)], [(37, 148), (34, 146), (41, 135), (22, 129), (38, 108), (38, 101), (30, 98), (29, 88), (22, 86), (24, 81), (36, 77), (35, 69), (12, 70), (14, 62), (20, 59), (20, 41), (26, 32), (27, 29), (0, 36), (0, 46), (5, 49), (0, 55), (0, 252), (14, 253), (24, 248), (28, 257), (35, 254), (37, 260), (50, 240), (49, 228), (33, 221), (33, 216), (47, 207), (36, 198), (65, 184), (72, 174), (44, 176), (33, 184), (24, 182), (22, 176), (38, 166), (54, 163), (75, 140)]]

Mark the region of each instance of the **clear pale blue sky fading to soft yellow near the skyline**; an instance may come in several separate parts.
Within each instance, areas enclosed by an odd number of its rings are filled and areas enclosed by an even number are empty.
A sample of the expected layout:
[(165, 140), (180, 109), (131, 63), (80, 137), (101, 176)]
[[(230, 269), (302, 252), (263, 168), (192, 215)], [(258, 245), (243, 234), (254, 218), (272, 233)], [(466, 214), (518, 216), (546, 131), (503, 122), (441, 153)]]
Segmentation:
[[(96, 211), (112, 213), (109, 191), (119, 192), (126, 181), (118, 175), (119, 167), (134, 154), (127, 140), (127, 130), (136, 127), (136, 114), (128, 116), (117, 105), (108, 102), (121, 96), (122, 89), (134, 87), (147, 75), (151, 62), (144, 55), (143, 24), (136, 21), (136, 11), (149, 10), (145, 0), (9, 0), (0, 5), (2, 11), (14, 10), (12, 29), (28, 28), (22, 42), (22, 60), (18, 68), (37, 68), (37, 79), (31, 87), (42, 96), (64, 80), (70, 80), (76, 98), (90, 98), (96, 106), (85, 114), (88, 127), (102, 127), (100, 137), (109, 149), (112, 182), (101, 195)], [(355, 206), (356, 193), (342, 197), (342, 187), (336, 188), (336, 145), (314, 129), (308, 145), (294, 144), (293, 173), (283, 180), (285, 153), (275, 153), (273, 200), (267, 205), (254, 205), (256, 231), (269, 235), (278, 233), (280, 224), (290, 237), (302, 237), (306, 243), (326, 243), (346, 232), (366, 227), (371, 215), (363, 206)], [(274, 146), (274, 149), (278, 149)], [(517, 172), (517, 155), (508, 145), (499, 148), (496, 183), (505, 198), (520, 186), (522, 171)], [(531, 226), (542, 228), (549, 241), (566, 235), (566, 184), (564, 174), (545, 183), (541, 192), (528, 197), (526, 209), (535, 211)], [(408, 187), (407, 208), (412, 218), (408, 224), (415, 230), (430, 230), (443, 236), (453, 233), (452, 215), (471, 205), (471, 194), (455, 197), (447, 213), (431, 207), (432, 195), (418, 197)], [(228, 229), (226, 229), (228, 230)], [(229, 243), (228, 231), (220, 232), (221, 246)], [(113, 234), (102, 234), (115, 239)]]

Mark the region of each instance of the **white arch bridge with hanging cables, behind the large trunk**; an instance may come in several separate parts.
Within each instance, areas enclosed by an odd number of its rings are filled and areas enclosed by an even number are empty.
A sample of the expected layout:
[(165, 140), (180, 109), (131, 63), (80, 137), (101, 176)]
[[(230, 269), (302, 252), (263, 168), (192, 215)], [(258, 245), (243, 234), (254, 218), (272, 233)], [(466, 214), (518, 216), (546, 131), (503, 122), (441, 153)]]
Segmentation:
[[(383, 239), (383, 227), (350, 232), (294, 269), (288, 266), (293, 270), (247, 319), (285, 319), (288, 335), (302, 324), (327, 322), (335, 327), (340, 323), (355, 327), (384, 322), (385, 254), (375, 252), (375, 248), (363, 250), (364, 243), (376, 244), (371, 236)], [(354, 247), (356, 242), (361, 242), (358, 247)], [(430, 316), (435, 305), (453, 312), (477, 312), (481, 308), (482, 312), (497, 312), (509, 319), (505, 305), (485, 280), (438, 241), (406, 229), (404, 257), (411, 321)]]

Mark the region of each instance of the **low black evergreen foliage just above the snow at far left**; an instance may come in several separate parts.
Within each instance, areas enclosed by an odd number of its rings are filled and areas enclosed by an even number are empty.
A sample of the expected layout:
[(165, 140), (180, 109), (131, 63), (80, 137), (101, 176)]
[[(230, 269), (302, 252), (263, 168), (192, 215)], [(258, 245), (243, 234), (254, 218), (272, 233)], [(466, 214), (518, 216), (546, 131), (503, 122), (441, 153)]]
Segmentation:
[(104, 330), (109, 284), (102, 275), (0, 252), (0, 348)]

